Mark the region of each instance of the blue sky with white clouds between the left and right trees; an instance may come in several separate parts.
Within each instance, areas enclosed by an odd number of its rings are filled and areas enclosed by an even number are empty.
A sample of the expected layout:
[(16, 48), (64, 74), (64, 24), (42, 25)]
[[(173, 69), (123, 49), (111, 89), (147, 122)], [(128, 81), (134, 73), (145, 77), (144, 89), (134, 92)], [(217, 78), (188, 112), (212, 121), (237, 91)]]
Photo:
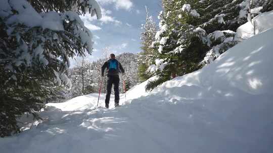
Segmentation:
[[(161, 0), (97, 0), (103, 17), (96, 20), (89, 15), (81, 17), (84, 25), (93, 33), (95, 42), (92, 56), (86, 58), (96, 61), (103, 55), (103, 48), (109, 47), (110, 53), (140, 52), (141, 24), (145, 23), (146, 9), (149, 9), (158, 24)], [(72, 64), (74, 62), (72, 61)]]

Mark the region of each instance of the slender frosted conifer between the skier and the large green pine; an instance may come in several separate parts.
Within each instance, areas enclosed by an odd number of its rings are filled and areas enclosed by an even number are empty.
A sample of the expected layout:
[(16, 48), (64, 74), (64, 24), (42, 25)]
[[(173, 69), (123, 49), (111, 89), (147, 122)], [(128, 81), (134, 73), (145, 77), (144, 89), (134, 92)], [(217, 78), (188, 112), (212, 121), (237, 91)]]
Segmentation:
[(146, 7), (146, 22), (142, 24), (141, 29), (143, 32), (141, 33), (142, 40), (142, 51), (139, 53), (138, 59), (138, 69), (139, 69), (139, 79), (141, 82), (146, 81), (151, 77), (151, 74), (147, 69), (149, 65), (154, 60), (153, 57), (155, 53), (152, 48), (152, 43), (155, 41), (155, 34), (157, 31), (157, 27), (155, 22), (153, 21), (153, 17), (149, 15), (148, 8)]

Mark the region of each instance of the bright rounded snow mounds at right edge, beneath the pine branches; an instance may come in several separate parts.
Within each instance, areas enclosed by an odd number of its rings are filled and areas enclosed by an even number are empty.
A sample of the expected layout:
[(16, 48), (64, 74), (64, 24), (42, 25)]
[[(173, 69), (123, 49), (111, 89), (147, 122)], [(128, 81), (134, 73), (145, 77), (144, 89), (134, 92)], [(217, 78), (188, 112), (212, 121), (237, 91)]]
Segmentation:
[(248, 39), (254, 36), (254, 26), (255, 25), (255, 34), (264, 32), (268, 29), (273, 28), (273, 11), (265, 12), (259, 14), (252, 19), (252, 23), (249, 21), (237, 29), (237, 36), (242, 39)]

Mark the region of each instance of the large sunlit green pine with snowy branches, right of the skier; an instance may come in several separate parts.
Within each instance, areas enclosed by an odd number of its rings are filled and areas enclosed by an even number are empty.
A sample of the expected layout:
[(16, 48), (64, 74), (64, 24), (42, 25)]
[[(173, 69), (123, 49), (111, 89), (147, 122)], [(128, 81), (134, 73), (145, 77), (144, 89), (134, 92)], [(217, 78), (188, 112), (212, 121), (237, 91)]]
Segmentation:
[(206, 46), (202, 30), (196, 29), (200, 22), (198, 1), (162, 1), (163, 11), (159, 15), (160, 30), (156, 33), (154, 48), (158, 57), (150, 66), (157, 80), (147, 85), (151, 90), (175, 75), (184, 75), (198, 68)]

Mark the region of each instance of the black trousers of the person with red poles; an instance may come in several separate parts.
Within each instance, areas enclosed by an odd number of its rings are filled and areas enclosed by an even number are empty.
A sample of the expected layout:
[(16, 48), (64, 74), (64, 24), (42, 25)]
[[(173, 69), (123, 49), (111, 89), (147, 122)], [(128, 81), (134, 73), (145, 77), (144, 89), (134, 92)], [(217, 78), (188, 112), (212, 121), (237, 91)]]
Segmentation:
[(115, 104), (119, 103), (119, 88), (118, 88), (119, 77), (118, 77), (118, 75), (116, 75), (116, 76), (108, 76), (107, 94), (106, 94), (105, 104), (109, 104), (113, 84), (114, 84), (114, 91), (115, 91)]

